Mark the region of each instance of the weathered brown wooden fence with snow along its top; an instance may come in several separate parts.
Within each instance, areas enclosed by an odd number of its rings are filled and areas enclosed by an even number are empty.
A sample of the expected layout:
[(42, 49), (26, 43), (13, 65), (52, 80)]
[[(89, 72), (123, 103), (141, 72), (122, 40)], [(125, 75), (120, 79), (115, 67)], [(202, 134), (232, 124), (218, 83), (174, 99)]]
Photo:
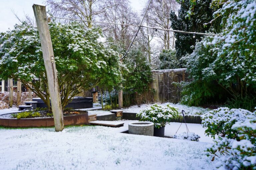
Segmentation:
[(155, 89), (154, 101), (178, 103), (180, 101), (180, 89), (173, 82), (188, 81), (186, 68), (153, 70), (153, 82), (151, 88)]

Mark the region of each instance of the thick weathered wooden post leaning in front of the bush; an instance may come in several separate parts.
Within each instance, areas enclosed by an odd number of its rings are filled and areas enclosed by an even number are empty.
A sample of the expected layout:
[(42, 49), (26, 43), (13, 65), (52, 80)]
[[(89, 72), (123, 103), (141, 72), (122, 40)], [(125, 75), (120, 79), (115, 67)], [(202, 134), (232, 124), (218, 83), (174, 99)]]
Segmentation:
[(57, 70), (53, 55), (52, 41), (47, 22), (46, 8), (45, 6), (34, 4), (33, 10), (43, 51), (44, 65), (47, 74), (55, 131), (62, 131), (64, 129), (64, 120), (60, 100)]

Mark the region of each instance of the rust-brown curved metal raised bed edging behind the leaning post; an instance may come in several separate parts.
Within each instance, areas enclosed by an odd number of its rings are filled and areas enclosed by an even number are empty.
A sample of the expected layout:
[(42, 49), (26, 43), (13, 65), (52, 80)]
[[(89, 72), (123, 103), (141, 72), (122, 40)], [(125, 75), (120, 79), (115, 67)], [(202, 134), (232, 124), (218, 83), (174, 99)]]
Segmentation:
[[(70, 112), (74, 112), (74, 111), (71, 110)], [(65, 126), (88, 124), (87, 111), (75, 111), (75, 112), (79, 112), (78, 114), (71, 114), (70, 112), (68, 114), (63, 114)], [(42, 111), (40, 112), (40, 114), (42, 114), (41, 117), (26, 118), (26, 119), (12, 118), (12, 114), (1, 115), (0, 126), (10, 127), (10, 128), (53, 127), (54, 126), (53, 117), (43, 116)]]

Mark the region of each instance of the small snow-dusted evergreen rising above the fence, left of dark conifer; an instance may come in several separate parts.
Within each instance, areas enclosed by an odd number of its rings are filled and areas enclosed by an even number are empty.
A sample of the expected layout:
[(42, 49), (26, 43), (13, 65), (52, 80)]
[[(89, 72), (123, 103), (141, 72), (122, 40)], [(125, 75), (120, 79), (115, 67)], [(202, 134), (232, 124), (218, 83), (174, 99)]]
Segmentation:
[(160, 66), (159, 69), (174, 69), (179, 68), (179, 61), (175, 55), (176, 51), (169, 49), (164, 49), (159, 54)]

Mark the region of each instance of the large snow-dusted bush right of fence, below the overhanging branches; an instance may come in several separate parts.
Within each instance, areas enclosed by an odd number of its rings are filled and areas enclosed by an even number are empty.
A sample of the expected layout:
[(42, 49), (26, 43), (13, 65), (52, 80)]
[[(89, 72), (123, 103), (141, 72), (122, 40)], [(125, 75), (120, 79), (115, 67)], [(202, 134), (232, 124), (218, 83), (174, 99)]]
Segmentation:
[(213, 38), (203, 38), (196, 43), (193, 53), (184, 57), (192, 81), (184, 84), (182, 103), (198, 106), (207, 102), (225, 102), (228, 97), (227, 105), (232, 108), (252, 111), (256, 106), (252, 97), (256, 94), (256, 79), (252, 79), (256, 57), (236, 57), (235, 60), (231, 54), (221, 57), (218, 54), (222, 43), (206, 45), (211, 41)]

